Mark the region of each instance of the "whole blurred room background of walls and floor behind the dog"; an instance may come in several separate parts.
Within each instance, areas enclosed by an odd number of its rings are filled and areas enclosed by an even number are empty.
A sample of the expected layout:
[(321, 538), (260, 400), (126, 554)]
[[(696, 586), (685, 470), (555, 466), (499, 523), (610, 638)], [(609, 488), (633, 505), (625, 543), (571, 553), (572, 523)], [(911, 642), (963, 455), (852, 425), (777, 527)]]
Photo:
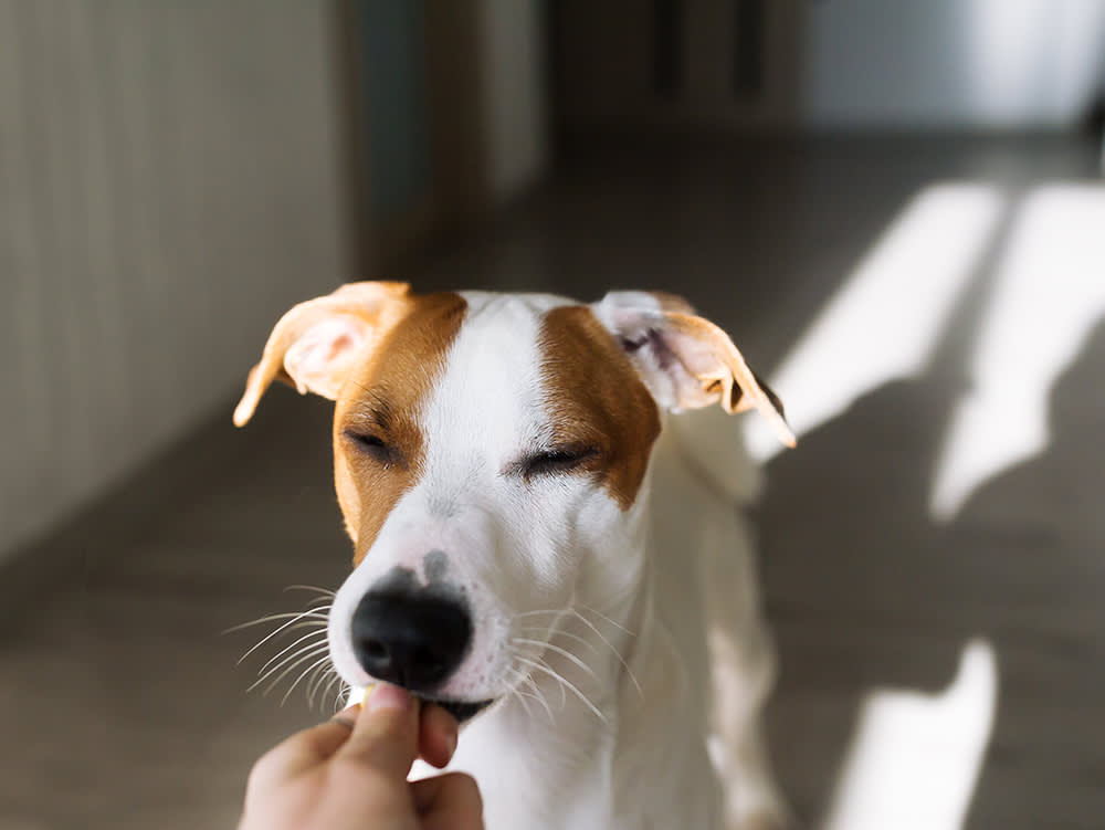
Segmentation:
[(232, 827), (334, 705), (221, 633), (347, 571), (329, 406), (230, 413), (382, 277), (681, 293), (770, 378), (809, 826), (1101, 828), (1103, 96), (1102, 0), (0, 0), (0, 827)]

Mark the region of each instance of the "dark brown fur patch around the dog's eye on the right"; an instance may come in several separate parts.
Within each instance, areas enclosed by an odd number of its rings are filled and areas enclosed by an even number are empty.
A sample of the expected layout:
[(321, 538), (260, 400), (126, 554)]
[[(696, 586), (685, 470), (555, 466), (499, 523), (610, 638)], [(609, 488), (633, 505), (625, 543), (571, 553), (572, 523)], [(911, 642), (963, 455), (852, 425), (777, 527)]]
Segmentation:
[(555, 442), (599, 448), (598, 465), (591, 469), (602, 476), (619, 506), (629, 509), (660, 434), (655, 401), (629, 358), (586, 306), (546, 314), (539, 346)]

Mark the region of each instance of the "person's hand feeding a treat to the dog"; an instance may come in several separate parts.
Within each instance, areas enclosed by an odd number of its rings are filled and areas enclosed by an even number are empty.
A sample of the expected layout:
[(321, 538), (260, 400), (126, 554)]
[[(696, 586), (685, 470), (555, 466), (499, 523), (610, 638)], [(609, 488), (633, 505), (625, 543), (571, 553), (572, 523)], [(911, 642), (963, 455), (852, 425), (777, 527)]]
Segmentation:
[(364, 707), (293, 735), (253, 765), (239, 830), (482, 830), (471, 776), (407, 781), (418, 757), (449, 764), (456, 734), (440, 706), (380, 684)]

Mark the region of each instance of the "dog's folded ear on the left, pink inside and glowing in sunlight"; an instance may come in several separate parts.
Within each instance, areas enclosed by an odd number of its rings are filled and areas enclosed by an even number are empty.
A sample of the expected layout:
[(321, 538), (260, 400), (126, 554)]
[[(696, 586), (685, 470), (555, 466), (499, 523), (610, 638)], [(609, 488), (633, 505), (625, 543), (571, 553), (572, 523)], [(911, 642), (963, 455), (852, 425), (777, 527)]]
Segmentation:
[(407, 283), (349, 283), (292, 308), (250, 371), (234, 409), (235, 425), (249, 422), (273, 380), (292, 384), (301, 395), (336, 400), (355, 359), (402, 316), (409, 292)]

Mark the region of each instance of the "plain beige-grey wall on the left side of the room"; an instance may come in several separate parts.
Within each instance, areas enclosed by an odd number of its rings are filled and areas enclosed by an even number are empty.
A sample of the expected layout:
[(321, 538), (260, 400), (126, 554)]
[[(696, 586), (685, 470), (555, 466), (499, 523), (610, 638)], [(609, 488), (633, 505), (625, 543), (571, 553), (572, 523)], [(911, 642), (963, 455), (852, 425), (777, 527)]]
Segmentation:
[(326, 9), (0, 0), (0, 557), (345, 279)]

